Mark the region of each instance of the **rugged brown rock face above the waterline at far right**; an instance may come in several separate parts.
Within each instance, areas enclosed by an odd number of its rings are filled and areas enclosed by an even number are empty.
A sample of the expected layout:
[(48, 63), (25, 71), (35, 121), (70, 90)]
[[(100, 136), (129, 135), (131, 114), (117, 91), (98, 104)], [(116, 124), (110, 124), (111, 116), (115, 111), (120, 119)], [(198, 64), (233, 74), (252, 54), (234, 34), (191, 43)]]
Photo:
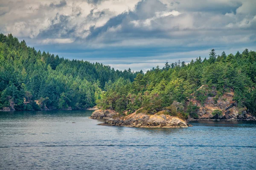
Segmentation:
[[(214, 95), (216, 95), (216, 93)], [(195, 116), (190, 115), (189, 120), (256, 120), (255, 116), (247, 113), (246, 108), (242, 111), (239, 110), (235, 105), (235, 101), (233, 101), (233, 97), (234, 93), (232, 91), (224, 93), (222, 96), (218, 97), (218, 99), (216, 99), (216, 96), (207, 97), (204, 105), (198, 102), (195, 97), (190, 99), (190, 102), (198, 106), (199, 110), (196, 112)], [(214, 114), (215, 110), (221, 113)]]

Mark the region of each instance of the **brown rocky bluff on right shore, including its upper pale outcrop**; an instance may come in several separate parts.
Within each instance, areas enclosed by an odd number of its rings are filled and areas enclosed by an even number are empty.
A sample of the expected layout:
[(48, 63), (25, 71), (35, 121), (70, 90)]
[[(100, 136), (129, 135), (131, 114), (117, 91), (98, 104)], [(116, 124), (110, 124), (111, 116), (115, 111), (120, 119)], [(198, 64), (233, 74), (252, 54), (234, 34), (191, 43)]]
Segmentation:
[[(207, 91), (205, 85), (202, 85), (198, 90)], [(213, 88), (209, 93), (212, 96), (208, 96), (203, 103), (196, 99), (195, 92), (192, 94), (189, 102), (197, 109), (189, 115), (189, 120), (256, 120), (256, 117), (246, 107), (238, 108), (236, 106), (233, 91), (217, 95), (218, 91)], [(186, 105), (189, 105), (189, 102)]]

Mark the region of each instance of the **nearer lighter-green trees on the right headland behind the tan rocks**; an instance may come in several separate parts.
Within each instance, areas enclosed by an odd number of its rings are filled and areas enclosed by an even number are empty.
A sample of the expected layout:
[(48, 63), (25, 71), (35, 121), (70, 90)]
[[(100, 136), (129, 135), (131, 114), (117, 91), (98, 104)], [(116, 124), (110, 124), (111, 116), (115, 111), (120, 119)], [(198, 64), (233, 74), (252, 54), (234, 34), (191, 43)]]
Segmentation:
[[(204, 85), (204, 88), (200, 88)], [(190, 63), (175, 62), (165, 67), (152, 68), (137, 74), (134, 82), (120, 77), (109, 81), (101, 97), (96, 100), (103, 109), (132, 113), (143, 108), (146, 113), (195, 113), (197, 106), (189, 102), (196, 97), (204, 104), (208, 96), (217, 99), (225, 92), (234, 92), (234, 104), (256, 114), (256, 53), (245, 49), (235, 55), (216, 55), (212, 49), (209, 58), (192, 59)], [(192, 96), (193, 94), (193, 96)]]

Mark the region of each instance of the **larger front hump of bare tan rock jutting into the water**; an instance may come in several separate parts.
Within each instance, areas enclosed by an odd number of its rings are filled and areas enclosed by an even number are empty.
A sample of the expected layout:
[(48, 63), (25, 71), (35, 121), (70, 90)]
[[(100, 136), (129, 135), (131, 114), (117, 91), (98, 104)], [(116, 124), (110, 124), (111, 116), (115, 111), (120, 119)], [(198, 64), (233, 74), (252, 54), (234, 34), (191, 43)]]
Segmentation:
[(110, 118), (106, 122), (99, 125), (109, 126), (125, 126), (125, 127), (188, 127), (185, 121), (177, 117), (154, 114), (147, 115), (144, 113), (132, 113), (128, 116), (116, 116), (116, 118)]

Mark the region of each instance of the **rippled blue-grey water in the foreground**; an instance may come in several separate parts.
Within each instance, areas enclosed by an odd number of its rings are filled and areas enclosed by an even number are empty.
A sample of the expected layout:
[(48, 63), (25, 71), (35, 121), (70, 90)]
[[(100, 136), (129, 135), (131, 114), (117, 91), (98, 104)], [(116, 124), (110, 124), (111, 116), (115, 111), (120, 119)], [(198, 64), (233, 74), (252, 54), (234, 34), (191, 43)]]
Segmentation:
[(91, 113), (0, 112), (0, 169), (256, 169), (256, 122), (109, 127)]

